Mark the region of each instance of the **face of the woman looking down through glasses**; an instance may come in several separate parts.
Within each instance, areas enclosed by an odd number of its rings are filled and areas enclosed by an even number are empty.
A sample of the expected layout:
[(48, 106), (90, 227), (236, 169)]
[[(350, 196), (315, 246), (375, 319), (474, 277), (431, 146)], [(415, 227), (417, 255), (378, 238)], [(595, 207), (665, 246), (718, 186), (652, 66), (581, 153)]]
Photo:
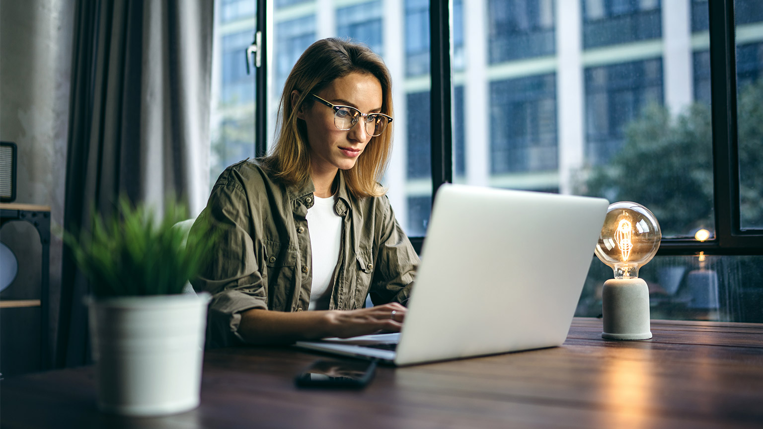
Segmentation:
[[(334, 79), (316, 95), (334, 105), (352, 106), (362, 113), (381, 112), (381, 84), (370, 73), (349, 73)], [(308, 104), (308, 103), (305, 103)], [(320, 102), (297, 113), (307, 124), (307, 143), (313, 173), (336, 173), (336, 169), (351, 169), (361, 156), (371, 134), (365, 131), (363, 120), (343, 131), (334, 125), (334, 110)]]

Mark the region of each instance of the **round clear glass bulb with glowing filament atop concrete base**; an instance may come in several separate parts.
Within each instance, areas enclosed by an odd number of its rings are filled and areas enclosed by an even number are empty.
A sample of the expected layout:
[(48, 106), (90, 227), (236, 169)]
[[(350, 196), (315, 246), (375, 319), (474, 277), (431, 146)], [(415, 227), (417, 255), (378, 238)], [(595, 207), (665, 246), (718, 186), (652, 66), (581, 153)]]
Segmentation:
[(633, 279), (652, 260), (662, 233), (655, 215), (635, 202), (616, 202), (607, 208), (595, 253), (612, 267), (615, 279)]

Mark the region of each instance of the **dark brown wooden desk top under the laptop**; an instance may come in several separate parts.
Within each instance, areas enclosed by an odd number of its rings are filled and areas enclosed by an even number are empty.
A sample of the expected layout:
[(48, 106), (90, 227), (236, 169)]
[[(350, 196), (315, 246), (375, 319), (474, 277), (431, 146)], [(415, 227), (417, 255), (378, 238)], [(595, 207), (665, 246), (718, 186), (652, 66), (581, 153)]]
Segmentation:
[(763, 324), (652, 321), (614, 342), (576, 318), (562, 347), (380, 367), (363, 391), (300, 390), (317, 355), (209, 351), (201, 407), (129, 419), (95, 408), (92, 367), (0, 382), (2, 427), (763, 427)]

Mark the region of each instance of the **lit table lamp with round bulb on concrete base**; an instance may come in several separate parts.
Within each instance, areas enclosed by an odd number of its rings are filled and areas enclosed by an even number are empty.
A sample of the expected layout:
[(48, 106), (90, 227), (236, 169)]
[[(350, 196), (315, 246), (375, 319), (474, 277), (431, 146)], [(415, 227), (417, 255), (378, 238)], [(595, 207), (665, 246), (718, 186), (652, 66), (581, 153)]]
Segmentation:
[(649, 331), (649, 288), (639, 279), (641, 268), (660, 246), (660, 225), (652, 212), (635, 202), (616, 202), (607, 208), (595, 253), (613, 269), (604, 282), (601, 307), (604, 331), (610, 340), (646, 340)]

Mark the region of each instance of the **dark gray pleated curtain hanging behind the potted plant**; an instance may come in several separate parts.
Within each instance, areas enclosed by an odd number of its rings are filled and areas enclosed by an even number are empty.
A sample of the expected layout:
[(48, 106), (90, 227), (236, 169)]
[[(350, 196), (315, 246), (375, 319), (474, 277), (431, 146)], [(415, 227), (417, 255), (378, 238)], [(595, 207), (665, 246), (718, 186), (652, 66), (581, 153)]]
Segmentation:
[[(119, 196), (197, 214), (208, 192), (213, 0), (79, 0), (72, 53), (64, 227)], [(90, 360), (89, 286), (63, 253), (58, 366)]]

